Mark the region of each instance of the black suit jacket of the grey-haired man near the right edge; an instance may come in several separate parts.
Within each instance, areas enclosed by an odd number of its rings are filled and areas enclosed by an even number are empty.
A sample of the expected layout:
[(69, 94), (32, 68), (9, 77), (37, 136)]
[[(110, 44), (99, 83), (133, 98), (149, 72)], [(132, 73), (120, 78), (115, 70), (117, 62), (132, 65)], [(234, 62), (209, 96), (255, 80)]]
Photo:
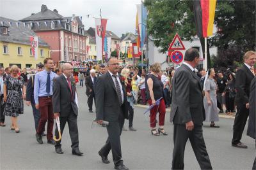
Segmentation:
[(250, 83), (254, 75), (247, 66), (239, 67), (236, 72), (236, 104), (246, 104), (249, 103), (250, 96)]

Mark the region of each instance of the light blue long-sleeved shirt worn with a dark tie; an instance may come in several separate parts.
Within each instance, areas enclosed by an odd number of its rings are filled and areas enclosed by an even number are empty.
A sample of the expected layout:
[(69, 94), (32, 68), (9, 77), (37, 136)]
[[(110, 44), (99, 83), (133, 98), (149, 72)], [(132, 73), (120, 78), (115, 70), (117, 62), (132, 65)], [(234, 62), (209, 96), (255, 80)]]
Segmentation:
[(46, 82), (47, 82), (47, 71), (40, 71), (36, 73), (35, 75), (35, 83), (34, 83), (34, 99), (35, 103), (38, 104), (38, 97), (44, 97), (44, 96), (51, 96), (52, 93), (52, 85), (53, 85), (53, 79), (57, 77), (57, 74), (53, 73), (51, 71), (50, 79), (51, 79), (51, 86), (50, 86), (50, 93), (48, 94), (46, 92)]

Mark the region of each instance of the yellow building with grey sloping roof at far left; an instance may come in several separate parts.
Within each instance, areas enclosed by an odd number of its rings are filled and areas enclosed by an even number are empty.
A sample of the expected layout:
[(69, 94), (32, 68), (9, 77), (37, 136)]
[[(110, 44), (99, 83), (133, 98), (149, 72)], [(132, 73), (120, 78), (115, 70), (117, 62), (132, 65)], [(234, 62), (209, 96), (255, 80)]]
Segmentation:
[(36, 34), (22, 22), (0, 17), (0, 23), (0, 66), (16, 64), (20, 69), (35, 68), (36, 64), (51, 57), (50, 46), (39, 38), (38, 57), (35, 59), (29, 38)]

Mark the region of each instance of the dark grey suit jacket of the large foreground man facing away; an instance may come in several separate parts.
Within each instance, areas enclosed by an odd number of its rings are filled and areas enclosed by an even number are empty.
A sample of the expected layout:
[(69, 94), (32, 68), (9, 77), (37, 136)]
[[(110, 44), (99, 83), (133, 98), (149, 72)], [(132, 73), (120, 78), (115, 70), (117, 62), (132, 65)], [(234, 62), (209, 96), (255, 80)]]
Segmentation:
[(195, 125), (202, 125), (204, 122), (205, 110), (199, 80), (185, 64), (175, 71), (170, 114), (170, 122), (173, 124), (186, 124), (192, 120)]

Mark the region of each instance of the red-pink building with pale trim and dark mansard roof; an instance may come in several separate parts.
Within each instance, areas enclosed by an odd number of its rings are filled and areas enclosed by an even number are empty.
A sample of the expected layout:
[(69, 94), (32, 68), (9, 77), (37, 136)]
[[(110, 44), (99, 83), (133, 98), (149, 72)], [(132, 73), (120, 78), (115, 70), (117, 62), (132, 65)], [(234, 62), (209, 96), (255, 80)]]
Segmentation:
[(49, 10), (46, 5), (41, 11), (20, 20), (30, 25), (40, 38), (51, 46), (51, 57), (55, 62), (86, 60), (86, 37), (81, 17), (63, 17), (56, 9)]

